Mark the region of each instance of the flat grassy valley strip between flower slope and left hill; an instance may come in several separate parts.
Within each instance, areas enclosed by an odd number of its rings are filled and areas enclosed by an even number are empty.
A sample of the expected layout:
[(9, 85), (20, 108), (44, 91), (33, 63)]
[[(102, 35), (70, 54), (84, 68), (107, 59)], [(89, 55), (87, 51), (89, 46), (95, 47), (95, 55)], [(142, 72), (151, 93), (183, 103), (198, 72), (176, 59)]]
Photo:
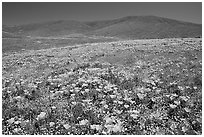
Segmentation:
[(73, 46), (78, 44), (86, 44), (86, 43), (98, 43), (98, 42), (111, 42), (118, 41), (116, 38), (102, 38), (102, 37), (86, 37), (86, 38), (3, 38), (2, 39), (2, 51), (3, 52), (19, 52), (22, 50), (40, 50), (40, 49), (49, 49), (49, 48), (59, 48), (66, 46)]

